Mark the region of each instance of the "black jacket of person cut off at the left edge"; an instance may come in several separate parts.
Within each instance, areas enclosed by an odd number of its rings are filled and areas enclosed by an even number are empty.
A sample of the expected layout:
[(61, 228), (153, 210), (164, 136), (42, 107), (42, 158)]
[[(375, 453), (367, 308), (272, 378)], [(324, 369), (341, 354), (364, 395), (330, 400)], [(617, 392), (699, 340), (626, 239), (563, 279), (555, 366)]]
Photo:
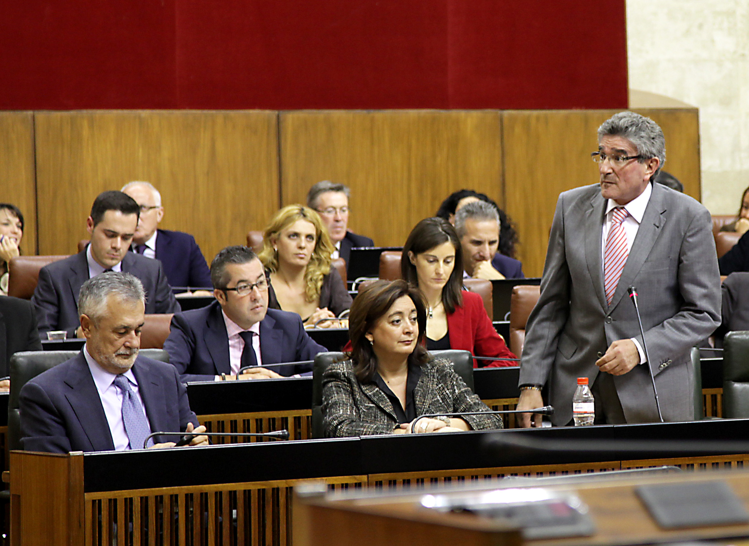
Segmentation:
[(0, 377), (8, 375), (14, 353), (41, 350), (34, 306), (25, 299), (0, 295)]

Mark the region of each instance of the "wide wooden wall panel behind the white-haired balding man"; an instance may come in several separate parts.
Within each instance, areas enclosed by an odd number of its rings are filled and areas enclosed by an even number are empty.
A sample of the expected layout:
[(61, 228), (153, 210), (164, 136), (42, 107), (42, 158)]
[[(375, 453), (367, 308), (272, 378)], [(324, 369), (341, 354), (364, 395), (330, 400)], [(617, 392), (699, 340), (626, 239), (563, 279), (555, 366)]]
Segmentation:
[(35, 130), (40, 254), (76, 252), (94, 198), (130, 180), (160, 189), (160, 226), (208, 262), (279, 206), (275, 112), (40, 112)]

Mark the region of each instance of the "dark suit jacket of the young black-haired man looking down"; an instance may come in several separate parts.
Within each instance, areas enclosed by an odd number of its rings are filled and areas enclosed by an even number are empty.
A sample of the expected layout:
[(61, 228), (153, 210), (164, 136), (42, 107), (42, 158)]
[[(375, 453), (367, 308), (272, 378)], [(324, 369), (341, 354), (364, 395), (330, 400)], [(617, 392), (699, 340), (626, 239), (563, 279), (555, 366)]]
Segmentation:
[[(181, 310), (157, 260), (128, 252), (122, 259), (122, 271), (132, 273), (143, 283), (146, 313), (178, 313)], [(31, 297), (37, 307), (41, 337), (46, 338), (50, 330), (67, 330), (68, 337), (75, 337), (80, 325), (78, 292), (86, 280), (88, 262), (85, 250), (41, 269), (37, 288)]]

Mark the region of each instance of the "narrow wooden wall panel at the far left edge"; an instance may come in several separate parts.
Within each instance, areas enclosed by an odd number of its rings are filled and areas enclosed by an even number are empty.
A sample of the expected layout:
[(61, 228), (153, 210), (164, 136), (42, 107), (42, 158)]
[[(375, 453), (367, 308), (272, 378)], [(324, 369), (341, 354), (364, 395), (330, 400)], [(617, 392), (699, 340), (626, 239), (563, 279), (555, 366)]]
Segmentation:
[(0, 112), (0, 203), (13, 203), (24, 217), (23, 254), (37, 254), (34, 113)]

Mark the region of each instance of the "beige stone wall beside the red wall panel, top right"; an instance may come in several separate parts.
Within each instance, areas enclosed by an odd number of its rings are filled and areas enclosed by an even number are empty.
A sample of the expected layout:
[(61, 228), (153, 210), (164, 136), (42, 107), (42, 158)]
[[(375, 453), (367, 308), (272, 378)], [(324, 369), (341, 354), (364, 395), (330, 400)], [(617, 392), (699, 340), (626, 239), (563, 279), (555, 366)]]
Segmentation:
[(702, 201), (735, 214), (749, 185), (749, 0), (626, 1), (629, 87), (700, 108)]

